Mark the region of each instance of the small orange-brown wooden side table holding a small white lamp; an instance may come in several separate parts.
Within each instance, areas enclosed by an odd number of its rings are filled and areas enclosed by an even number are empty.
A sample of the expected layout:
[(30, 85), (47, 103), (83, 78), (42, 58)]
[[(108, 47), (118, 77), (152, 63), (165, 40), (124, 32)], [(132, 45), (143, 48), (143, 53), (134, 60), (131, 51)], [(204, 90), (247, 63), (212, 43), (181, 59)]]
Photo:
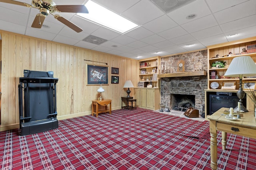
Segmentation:
[[(98, 117), (99, 113), (104, 113), (108, 112), (111, 115), (111, 102), (112, 100), (110, 99), (103, 99), (102, 101), (100, 100), (92, 100), (92, 116), (96, 114), (96, 117)], [(107, 105), (109, 104), (109, 109), (107, 109)], [(99, 105), (105, 106), (104, 110), (99, 111)]]

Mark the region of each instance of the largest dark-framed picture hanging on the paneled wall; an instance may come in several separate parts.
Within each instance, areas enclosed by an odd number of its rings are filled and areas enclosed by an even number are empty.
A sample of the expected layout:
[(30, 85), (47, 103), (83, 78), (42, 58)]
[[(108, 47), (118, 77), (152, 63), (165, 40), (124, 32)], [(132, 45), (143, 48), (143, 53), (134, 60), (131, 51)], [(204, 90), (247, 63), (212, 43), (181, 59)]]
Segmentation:
[(108, 66), (86, 64), (87, 86), (108, 85)]

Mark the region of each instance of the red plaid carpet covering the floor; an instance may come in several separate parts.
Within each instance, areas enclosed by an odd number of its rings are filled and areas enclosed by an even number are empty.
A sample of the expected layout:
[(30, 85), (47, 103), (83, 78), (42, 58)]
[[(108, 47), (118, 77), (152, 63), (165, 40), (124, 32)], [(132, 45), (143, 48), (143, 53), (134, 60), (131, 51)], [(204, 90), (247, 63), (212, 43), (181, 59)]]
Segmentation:
[[(137, 108), (61, 120), (58, 129), (34, 135), (4, 131), (0, 169), (210, 170), (210, 139), (199, 139), (208, 126)], [(255, 170), (255, 139), (228, 134), (227, 140), (222, 150), (218, 134), (219, 169)]]

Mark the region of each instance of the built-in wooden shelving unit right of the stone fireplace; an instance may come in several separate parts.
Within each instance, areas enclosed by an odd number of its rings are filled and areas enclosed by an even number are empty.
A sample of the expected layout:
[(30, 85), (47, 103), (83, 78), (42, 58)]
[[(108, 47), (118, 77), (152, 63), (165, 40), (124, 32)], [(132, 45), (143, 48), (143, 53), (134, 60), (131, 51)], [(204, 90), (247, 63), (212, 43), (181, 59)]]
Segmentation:
[[(231, 61), (235, 57), (240, 56), (250, 56), (256, 63), (256, 53), (243, 53), (242, 50), (245, 48), (247, 50), (248, 45), (256, 44), (256, 37), (251, 37), (247, 39), (241, 39), (239, 41), (231, 41), (228, 43), (221, 43), (218, 45), (211, 45), (208, 46), (208, 88), (205, 90), (205, 113), (207, 113), (208, 109), (208, 93), (211, 92), (237, 92), (239, 88), (239, 78), (236, 77), (221, 77), (226, 73), (226, 70), (228, 69), (228, 66), (230, 65)], [(231, 52), (232, 55), (228, 57), (222, 57), (224, 55), (228, 55), (228, 53)], [(216, 55), (219, 55), (216, 57)], [(225, 61), (226, 66), (224, 68), (212, 68), (212, 63), (215, 61)], [(239, 69), (239, 68), (238, 68)], [(212, 78), (211, 72), (214, 71), (216, 74), (218, 74), (218, 78)], [(213, 89), (211, 88), (212, 82), (217, 82), (219, 84), (218, 88)], [(235, 82), (236, 89), (234, 90), (224, 90), (222, 89), (223, 82)], [(247, 82), (256, 82), (256, 77), (244, 77), (242, 79), (242, 83)], [(243, 85), (244, 86), (244, 85)], [(246, 90), (244, 90), (246, 92)], [(254, 104), (250, 100), (249, 97), (246, 98), (246, 108), (247, 109), (254, 109)], [(206, 117), (207, 119), (207, 117)]]

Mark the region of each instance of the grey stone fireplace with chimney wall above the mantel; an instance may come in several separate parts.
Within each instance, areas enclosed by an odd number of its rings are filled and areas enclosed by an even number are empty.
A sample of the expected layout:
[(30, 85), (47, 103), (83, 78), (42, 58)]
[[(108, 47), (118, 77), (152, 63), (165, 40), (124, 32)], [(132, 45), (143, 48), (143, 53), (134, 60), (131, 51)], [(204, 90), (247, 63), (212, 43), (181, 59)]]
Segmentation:
[[(185, 72), (194, 72), (194, 64), (202, 63), (202, 69), (207, 70), (207, 50), (186, 53), (161, 58), (161, 64), (168, 64), (173, 70), (177, 69), (178, 61), (185, 61)], [(175, 71), (174, 71), (175, 73)], [(178, 74), (178, 73), (177, 73)], [(160, 79), (161, 104), (172, 110), (181, 110), (186, 104), (204, 113), (204, 89), (207, 89), (207, 76), (176, 76)], [(181, 99), (175, 98), (179, 96)], [(178, 102), (178, 104), (177, 104)], [(182, 109), (185, 111), (185, 109)]]

